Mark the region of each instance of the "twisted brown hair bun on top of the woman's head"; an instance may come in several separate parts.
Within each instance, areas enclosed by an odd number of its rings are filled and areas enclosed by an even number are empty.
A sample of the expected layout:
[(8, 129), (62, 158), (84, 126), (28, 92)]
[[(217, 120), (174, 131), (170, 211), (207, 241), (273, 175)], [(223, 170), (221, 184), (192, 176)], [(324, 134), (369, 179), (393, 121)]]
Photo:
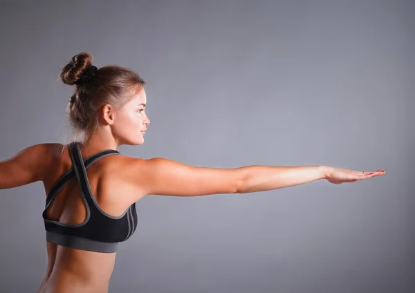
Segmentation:
[[(82, 84), (84, 80), (93, 75), (96, 67), (92, 66), (93, 57), (89, 53), (82, 52), (72, 57), (71, 62), (62, 68), (60, 77), (64, 84), (73, 86), (74, 84)], [(98, 68), (97, 68), (98, 69)], [(84, 77), (85, 76), (85, 77)], [(77, 80), (82, 80), (77, 82)]]

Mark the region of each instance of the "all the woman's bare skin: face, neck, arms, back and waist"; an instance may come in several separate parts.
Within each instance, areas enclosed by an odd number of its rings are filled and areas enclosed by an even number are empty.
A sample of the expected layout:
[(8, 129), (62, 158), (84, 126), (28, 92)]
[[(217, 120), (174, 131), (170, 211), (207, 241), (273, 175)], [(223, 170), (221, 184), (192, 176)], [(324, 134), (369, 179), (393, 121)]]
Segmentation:
[[(80, 143), (82, 158), (122, 144), (144, 143), (149, 125), (145, 114), (144, 88), (116, 110), (105, 105), (100, 112), (100, 128)], [(72, 162), (68, 147), (62, 144), (36, 144), (0, 162), (0, 189), (42, 181), (45, 192)], [(250, 193), (302, 185), (319, 179), (333, 184), (382, 176), (374, 172), (337, 169), (326, 166), (270, 167), (246, 166), (232, 169), (192, 167), (173, 160), (144, 160), (125, 155), (109, 155), (87, 170), (93, 196), (107, 214), (120, 216), (133, 202), (148, 195), (205, 196), (219, 193)], [(75, 178), (59, 192), (46, 211), (46, 218), (62, 223), (82, 223), (86, 208)], [(62, 247), (46, 241), (48, 265), (37, 293), (108, 292), (116, 253), (90, 252)]]

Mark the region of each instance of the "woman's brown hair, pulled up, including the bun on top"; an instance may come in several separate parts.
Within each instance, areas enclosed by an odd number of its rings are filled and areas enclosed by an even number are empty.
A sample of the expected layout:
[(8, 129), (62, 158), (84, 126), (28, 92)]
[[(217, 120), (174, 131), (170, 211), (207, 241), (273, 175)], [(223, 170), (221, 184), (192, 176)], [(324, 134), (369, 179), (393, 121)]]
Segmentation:
[[(94, 71), (92, 65), (92, 55), (80, 53), (72, 57), (60, 73), (64, 84), (75, 85), (75, 93), (66, 108), (73, 126), (72, 140), (79, 135), (83, 139), (91, 138), (99, 125), (98, 115), (102, 106), (110, 104), (115, 109), (121, 108), (145, 85), (144, 80), (129, 68), (109, 65)], [(85, 75), (89, 77), (84, 81)], [(81, 77), (82, 82), (79, 80)]]

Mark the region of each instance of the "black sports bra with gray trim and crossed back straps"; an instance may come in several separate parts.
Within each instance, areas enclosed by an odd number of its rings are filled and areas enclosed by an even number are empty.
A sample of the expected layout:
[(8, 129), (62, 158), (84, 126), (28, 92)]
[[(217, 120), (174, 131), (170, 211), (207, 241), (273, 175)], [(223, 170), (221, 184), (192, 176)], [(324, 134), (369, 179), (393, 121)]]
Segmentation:
[[(42, 217), (46, 229), (46, 240), (66, 247), (93, 252), (116, 252), (119, 242), (127, 240), (137, 227), (136, 203), (134, 202), (121, 216), (111, 216), (100, 208), (91, 192), (86, 176), (86, 168), (107, 155), (120, 154), (106, 149), (82, 160), (77, 142), (68, 144), (71, 153), (72, 168), (64, 173), (50, 188), (46, 197), (46, 207)], [(86, 219), (80, 224), (66, 224), (46, 218), (46, 209), (55, 196), (76, 176), (80, 184), (82, 198), (86, 206)]]

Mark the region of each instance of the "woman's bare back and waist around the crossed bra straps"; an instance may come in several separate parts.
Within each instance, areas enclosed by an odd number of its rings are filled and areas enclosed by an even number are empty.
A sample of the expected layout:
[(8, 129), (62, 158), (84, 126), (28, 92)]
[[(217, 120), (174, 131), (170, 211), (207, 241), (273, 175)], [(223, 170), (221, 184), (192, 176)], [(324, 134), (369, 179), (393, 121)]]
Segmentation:
[[(62, 149), (63, 148), (63, 149)], [(93, 153), (82, 153), (82, 158)], [(86, 169), (92, 194), (100, 208), (120, 216), (136, 201), (140, 190), (125, 176), (129, 157), (110, 155)], [(137, 159), (135, 159), (137, 160)], [(56, 144), (50, 153), (50, 170), (44, 178), (46, 191), (72, 168), (68, 147)], [(47, 194), (48, 192), (46, 192)], [(86, 207), (77, 179), (72, 178), (46, 209), (46, 218), (65, 224), (80, 224)], [(107, 292), (116, 253), (90, 252), (46, 242), (48, 265), (38, 292)]]

